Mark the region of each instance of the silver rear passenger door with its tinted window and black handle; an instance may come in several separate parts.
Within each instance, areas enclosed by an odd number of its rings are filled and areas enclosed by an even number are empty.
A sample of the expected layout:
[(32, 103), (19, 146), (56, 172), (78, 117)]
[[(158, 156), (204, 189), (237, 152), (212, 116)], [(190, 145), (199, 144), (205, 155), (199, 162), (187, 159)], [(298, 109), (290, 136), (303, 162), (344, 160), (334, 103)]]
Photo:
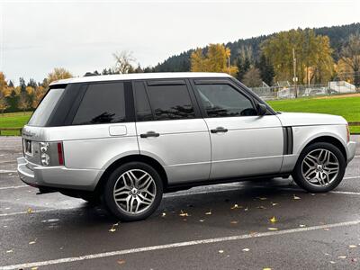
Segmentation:
[(165, 168), (169, 184), (207, 180), (210, 136), (188, 82), (134, 81), (140, 154)]

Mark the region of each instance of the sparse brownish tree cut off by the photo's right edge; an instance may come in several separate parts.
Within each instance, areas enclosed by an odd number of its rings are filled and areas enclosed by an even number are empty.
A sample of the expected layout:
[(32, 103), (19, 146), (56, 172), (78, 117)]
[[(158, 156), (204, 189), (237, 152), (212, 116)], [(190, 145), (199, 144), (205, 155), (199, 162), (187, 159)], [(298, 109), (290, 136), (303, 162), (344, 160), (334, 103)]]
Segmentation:
[(354, 84), (360, 85), (360, 35), (351, 35), (342, 49), (342, 59), (354, 71)]

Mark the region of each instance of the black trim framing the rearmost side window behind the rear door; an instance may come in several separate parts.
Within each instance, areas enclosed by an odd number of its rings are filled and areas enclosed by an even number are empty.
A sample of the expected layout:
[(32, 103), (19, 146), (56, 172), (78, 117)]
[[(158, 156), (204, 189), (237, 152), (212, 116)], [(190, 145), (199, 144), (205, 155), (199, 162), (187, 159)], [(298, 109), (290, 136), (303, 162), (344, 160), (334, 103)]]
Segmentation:
[[(73, 121), (76, 116), (76, 112), (80, 108), (80, 104), (82, 103), (85, 93), (89, 87), (89, 85), (105, 85), (105, 84), (123, 84), (124, 87), (124, 104), (125, 104), (125, 121), (120, 122), (107, 122), (107, 123), (85, 123), (85, 124), (74, 124)], [(76, 97), (75, 103), (70, 108), (70, 111), (67, 114), (67, 118), (65, 121), (65, 125), (67, 126), (88, 126), (88, 125), (113, 125), (113, 124), (121, 124), (121, 123), (129, 123), (135, 121), (135, 112), (134, 112), (134, 103), (132, 96), (132, 85), (130, 80), (108, 80), (108, 81), (95, 81), (95, 82), (86, 82), (86, 83), (74, 83), (69, 85), (78, 85), (79, 94)]]

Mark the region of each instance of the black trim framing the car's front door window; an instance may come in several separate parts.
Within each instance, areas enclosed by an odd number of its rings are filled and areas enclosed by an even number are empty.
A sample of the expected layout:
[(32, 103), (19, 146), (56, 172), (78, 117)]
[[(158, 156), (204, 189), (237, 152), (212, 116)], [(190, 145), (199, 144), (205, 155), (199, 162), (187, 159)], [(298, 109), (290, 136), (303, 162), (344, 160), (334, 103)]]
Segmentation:
[[(190, 80), (191, 85), (193, 87), (193, 93), (196, 97), (197, 102), (199, 103), (200, 106), (200, 111), (202, 112), (202, 117), (203, 118), (220, 118), (220, 117), (211, 117), (208, 115), (208, 113), (206, 112), (203, 104), (202, 104), (202, 98), (199, 94), (199, 91), (196, 88), (196, 85), (230, 85), (231, 87), (233, 87), (236, 91), (238, 91), (239, 94), (243, 94), (249, 101), (250, 103), (253, 105), (253, 108), (255, 110), (257, 110), (257, 103), (254, 100), (254, 97), (252, 95), (249, 95), (246, 91), (244, 91), (244, 89), (238, 87), (238, 85), (234, 84), (233, 81), (228, 78), (228, 77), (217, 77), (217, 78), (193, 78)], [(254, 117), (257, 115), (241, 115), (241, 116), (223, 116), (223, 117)], [(223, 118), (222, 117), (222, 118)]]

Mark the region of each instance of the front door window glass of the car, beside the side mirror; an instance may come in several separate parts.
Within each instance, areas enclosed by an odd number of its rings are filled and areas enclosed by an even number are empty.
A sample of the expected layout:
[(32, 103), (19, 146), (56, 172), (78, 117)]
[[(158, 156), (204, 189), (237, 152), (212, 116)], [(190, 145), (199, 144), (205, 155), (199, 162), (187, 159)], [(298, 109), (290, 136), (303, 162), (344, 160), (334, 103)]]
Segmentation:
[(257, 115), (253, 103), (231, 85), (195, 85), (208, 117)]

